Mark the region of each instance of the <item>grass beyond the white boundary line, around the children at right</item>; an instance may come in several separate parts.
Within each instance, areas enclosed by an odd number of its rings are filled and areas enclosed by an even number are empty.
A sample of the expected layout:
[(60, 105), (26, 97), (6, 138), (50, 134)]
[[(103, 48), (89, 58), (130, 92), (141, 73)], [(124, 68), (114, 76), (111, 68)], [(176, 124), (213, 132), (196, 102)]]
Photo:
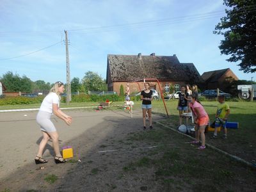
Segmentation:
[[(230, 106), (230, 115), (228, 116), (229, 122), (239, 122), (238, 129), (228, 129), (228, 139), (223, 144), (223, 140), (220, 139), (223, 132), (219, 132), (219, 138), (217, 140), (211, 140), (210, 136), (212, 132), (206, 134), (206, 143), (214, 145), (214, 147), (220, 148), (230, 154), (234, 154), (250, 163), (255, 164), (255, 146), (256, 146), (256, 102), (227, 102)], [(160, 113), (163, 113), (163, 109), (159, 109), (159, 102), (154, 104), (154, 108), (161, 110)], [(202, 102), (205, 111), (207, 111), (211, 121), (215, 118), (217, 101), (204, 101)], [(166, 104), (170, 110), (170, 118), (161, 120), (163, 124), (168, 125), (173, 128), (179, 126), (179, 112), (175, 107), (177, 102), (168, 102)], [(154, 109), (153, 109), (154, 111)], [(253, 161), (254, 159), (254, 161)]]

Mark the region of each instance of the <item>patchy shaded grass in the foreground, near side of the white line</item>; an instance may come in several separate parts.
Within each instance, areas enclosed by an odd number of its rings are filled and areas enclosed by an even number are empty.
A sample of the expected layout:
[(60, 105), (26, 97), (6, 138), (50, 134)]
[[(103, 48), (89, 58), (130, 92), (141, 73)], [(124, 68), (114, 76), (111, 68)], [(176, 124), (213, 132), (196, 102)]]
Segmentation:
[[(192, 191), (233, 191), (234, 186), (239, 190), (250, 183), (255, 184), (256, 172), (253, 168), (248, 168), (210, 148), (197, 150), (196, 146), (186, 143), (189, 139), (185, 136), (165, 127), (159, 128), (156, 127), (152, 131), (152, 135), (162, 138), (155, 140), (155, 143), (166, 145), (147, 150), (141, 157), (125, 164), (122, 168), (124, 175), (138, 175), (154, 169), (152, 177), (159, 182), (159, 191), (186, 191), (188, 188)], [(152, 142), (149, 135), (149, 132), (133, 133), (129, 134), (127, 140), (138, 143)], [(238, 184), (237, 180), (246, 183)]]

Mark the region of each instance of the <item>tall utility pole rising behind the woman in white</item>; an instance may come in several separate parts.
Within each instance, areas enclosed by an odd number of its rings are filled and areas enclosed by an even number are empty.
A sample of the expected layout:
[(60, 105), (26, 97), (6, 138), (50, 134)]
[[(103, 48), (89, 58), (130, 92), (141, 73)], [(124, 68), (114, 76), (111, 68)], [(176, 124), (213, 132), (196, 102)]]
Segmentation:
[(67, 104), (71, 101), (71, 86), (70, 86), (70, 69), (69, 69), (69, 53), (68, 53), (68, 31), (65, 32), (66, 43), (66, 67), (67, 67)]

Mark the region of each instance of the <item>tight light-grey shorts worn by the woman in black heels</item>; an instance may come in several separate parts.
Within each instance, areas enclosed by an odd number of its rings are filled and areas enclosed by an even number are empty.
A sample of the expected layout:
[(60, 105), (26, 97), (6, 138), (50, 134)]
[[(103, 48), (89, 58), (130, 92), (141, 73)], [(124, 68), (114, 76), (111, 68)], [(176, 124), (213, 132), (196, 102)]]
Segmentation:
[(36, 122), (40, 125), (41, 130), (45, 132), (56, 131), (54, 124), (51, 122), (51, 113), (46, 111), (38, 111), (36, 115)]

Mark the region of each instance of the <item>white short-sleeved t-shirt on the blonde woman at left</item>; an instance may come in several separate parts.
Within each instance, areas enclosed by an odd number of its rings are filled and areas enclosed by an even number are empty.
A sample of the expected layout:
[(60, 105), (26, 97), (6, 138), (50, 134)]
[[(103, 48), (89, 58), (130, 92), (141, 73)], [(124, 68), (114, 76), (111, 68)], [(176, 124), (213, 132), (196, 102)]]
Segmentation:
[(39, 111), (46, 111), (49, 113), (52, 113), (52, 104), (58, 104), (58, 107), (60, 107), (60, 99), (59, 96), (56, 93), (49, 93), (44, 98)]

